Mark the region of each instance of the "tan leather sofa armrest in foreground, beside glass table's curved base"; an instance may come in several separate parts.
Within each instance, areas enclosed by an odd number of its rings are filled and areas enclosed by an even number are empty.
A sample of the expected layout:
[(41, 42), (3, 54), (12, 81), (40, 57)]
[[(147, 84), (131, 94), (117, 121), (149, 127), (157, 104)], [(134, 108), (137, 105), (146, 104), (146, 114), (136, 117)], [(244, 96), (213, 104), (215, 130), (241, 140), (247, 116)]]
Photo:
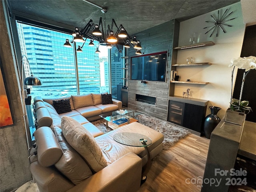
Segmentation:
[(140, 188), (142, 160), (128, 153), (67, 192), (130, 192)]

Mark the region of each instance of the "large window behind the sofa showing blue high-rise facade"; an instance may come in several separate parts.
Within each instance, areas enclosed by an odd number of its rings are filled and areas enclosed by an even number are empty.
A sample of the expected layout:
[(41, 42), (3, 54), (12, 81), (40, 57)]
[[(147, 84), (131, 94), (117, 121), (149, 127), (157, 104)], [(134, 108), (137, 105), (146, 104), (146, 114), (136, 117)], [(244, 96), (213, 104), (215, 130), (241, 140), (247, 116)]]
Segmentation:
[[(95, 46), (88, 46), (90, 40), (73, 43), (72, 48), (63, 46), (72, 35), (17, 22), (22, 55), (26, 55), (34, 76), (41, 78), (42, 86), (31, 86), (31, 96), (60, 97), (92, 92), (109, 92), (108, 49), (100, 46), (101, 54), (96, 54)], [(83, 46), (83, 52), (74, 49)], [(76, 72), (77, 65), (77, 72)], [(24, 67), (28, 69), (28, 66)], [(26, 70), (25, 76), (30, 76)], [(77, 77), (79, 88), (77, 83)]]

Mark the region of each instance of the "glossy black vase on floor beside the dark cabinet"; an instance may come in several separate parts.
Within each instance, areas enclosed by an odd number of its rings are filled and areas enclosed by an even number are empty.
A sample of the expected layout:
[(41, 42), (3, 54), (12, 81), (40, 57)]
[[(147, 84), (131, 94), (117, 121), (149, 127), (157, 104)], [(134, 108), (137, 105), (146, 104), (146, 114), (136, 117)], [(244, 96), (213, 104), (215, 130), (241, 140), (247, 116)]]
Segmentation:
[(217, 116), (217, 113), (219, 110), (221, 110), (220, 107), (215, 106), (209, 106), (209, 108), (211, 110), (211, 114), (206, 116), (204, 120), (204, 135), (208, 139), (210, 139), (212, 131), (220, 122), (220, 118)]

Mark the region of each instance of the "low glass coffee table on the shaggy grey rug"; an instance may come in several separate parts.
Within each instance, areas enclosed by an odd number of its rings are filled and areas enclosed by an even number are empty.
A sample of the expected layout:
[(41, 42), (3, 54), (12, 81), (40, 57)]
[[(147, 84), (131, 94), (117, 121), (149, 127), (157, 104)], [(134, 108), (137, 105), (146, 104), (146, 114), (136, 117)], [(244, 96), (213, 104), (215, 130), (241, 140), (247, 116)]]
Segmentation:
[(140, 113), (135, 112), (134, 110), (126, 109), (125, 114), (120, 114), (118, 111), (113, 111), (109, 113), (103, 113), (100, 115), (101, 118), (106, 120), (106, 127), (111, 129), (117, 129), (124, 125), (127, 125), (132, 122), (138, 122), (136, 117)]

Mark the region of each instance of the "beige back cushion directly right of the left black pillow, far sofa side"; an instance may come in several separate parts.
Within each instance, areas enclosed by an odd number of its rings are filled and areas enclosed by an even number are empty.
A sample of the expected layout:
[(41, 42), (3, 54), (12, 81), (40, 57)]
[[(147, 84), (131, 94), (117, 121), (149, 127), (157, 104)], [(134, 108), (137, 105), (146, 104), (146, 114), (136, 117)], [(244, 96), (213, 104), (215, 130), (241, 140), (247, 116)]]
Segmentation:
[(72, 100), (74, 104), (74, 108), (82, 108), (88, 106), (94, 106), (94, 102), (92, 100), (92, 95), (72, 95)]

